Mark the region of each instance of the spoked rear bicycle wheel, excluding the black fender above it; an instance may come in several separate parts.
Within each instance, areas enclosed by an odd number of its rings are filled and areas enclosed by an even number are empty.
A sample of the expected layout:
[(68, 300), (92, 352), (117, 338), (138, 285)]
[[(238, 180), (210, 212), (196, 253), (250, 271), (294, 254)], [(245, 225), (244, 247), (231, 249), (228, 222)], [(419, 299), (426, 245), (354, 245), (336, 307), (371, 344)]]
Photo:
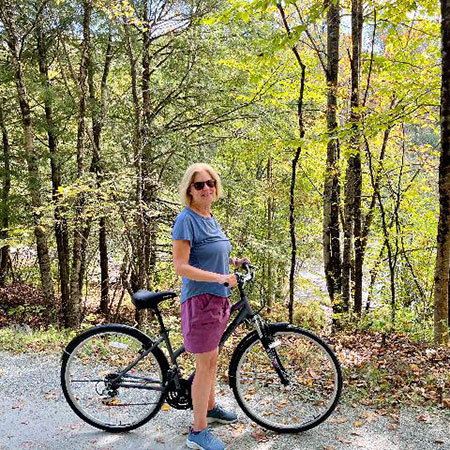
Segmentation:
[(128, 333), (102, 332), (83, 340), (69, 355), (65, 383), (76, 412), (106, 429), (132, 427), (161, 405), (163, 377), (153, 353), (116, 379), (143, 348)]

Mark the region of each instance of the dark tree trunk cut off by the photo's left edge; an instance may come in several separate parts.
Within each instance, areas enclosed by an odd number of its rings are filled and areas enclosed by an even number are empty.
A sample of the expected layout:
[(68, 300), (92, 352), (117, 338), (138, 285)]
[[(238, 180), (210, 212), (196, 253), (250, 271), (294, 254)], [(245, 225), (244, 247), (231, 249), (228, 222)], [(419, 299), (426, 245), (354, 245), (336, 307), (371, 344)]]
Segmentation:
[[(1, 198), (1, 231), (0, 238), (8, 239), (9, 232), (9, 191), (11, 190), (10, 145), (8, 131), (3, 113), (4, 99), (0, 98), (0, 127), (2, 129), (3, 167), (2, 167), (2, 198)], [(3, 245), (0, 250), (0, 287), (5, 287), (9, 266), (9, 244)]]

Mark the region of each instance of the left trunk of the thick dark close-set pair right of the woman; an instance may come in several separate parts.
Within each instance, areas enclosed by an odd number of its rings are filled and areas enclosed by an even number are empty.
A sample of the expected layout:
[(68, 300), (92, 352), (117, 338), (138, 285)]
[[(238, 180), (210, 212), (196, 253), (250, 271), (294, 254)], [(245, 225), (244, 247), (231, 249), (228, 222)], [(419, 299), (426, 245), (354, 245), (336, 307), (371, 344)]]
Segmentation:
[[(342, 269), (339, 236), (339, 143), (337, 140), (337, 82), (339, 71), (339, 2), (326, 0), (327, 12), (327, 162), (324, 182), (323, 257), (333, 312), (341, 313)], [(335, 320), (336, 322), (336, 320)]]

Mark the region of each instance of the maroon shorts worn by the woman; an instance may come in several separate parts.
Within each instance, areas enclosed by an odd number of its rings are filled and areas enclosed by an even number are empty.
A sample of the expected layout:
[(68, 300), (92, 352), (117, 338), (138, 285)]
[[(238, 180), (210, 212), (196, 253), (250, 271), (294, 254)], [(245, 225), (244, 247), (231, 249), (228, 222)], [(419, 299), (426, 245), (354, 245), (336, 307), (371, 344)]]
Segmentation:
[(228, 297), (200, 294), (181, 304), (181, 330), (184, 348), (190, 353), (205, 353), (219, 346), (230, 317)]

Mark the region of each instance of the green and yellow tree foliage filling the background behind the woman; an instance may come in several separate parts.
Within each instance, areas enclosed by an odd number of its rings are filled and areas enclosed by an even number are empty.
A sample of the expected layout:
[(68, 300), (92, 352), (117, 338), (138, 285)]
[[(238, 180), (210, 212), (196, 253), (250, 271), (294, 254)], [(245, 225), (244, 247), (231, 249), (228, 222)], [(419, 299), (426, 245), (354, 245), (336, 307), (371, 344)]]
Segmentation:
[[(111, 282), (118, 286), (123, 262), (135, 264), (136, 222), (139, 207), (157, 229), (155, 289), (179, 289), (171, 264), (170, 229), (180, 206), (177, 184), (185, 168), (197, 161), (216, 167), (225, 185), (224, 198), (214, 214), (230, 237), (233, 256), (248, 256), (261, 267), (257, 296), (274, 300), (274, 310), (285, 314), (290, 264), (289, 187), (293, 155), (301, 147), (295, 192), (295, 231), (299, 266), (310, 269), (322, 259), (323, 183), (326, 160), (327, 85), (323, 71), (326, 54), (323, 2), (282, 2), (290, 34), (283, 28), (272, 0), (215, 2), (202, 0), (192, 21), (168, 30), (158, 21), (149, 27), (142, 16), (143, 2), (99, 1), (91, 24), (93, 94), (87, 120), (100, 108), (108, 36), (112, 60), (104, 92), (101, 177), (90, 171), (94, 155), (92, 136), (85, 136), (82, 177), (77, 175), (77, 130), (80, 87), (82, 3), (65, 1), (45, 5), (36, 20), (32, 3), (20, 6), (18, 32), (23, 36), (22, 65), (31, 99), (37, 168), (42, 205), (31, 208), (25, 164), (23, 128), (17, 102), (14, 71), (7, 46), (0, 50), (1, 94), (5, 129), (11, 142), (9, 225), (0, 244), (11, 246), (13, 276), (38, 284), (39, 266), (34, 246), (34, 223), (42, 219), (49, 238), (52, 273), (58, 277), (55, 207), (67, 222), (70, 244), (80, 222), (89, 224), (86, 292), (98, 285), (98, 219), (107, 223)], [(171, 10), (172, 22), (192, 12)], [(343, 14), (349, 5), (343, 4)], [(357, 123), (363, 133), (363, 214), (369, 212), (374, 177), (379, 174), (380, 197), (387, 218), (388, 242), (394, 249), (395, 321), (392, 321), (390, 279), (385, 236), (376, 205), (365, 255), (364, 279), (377, 270), (373, 309), (361, 327), (380, 332), (405, 331), (428, 338), (431, 327), (431, 291), (435, 230), (437, 227), (437, 173), (439, 153), (440, 30), (438, 4), (429, 0), (375, 2), (365, 16), (361, 67), (364, 105)], [(376, 12), (376, 15), (374, 14)], [(376, 17), (376, 29), (373, 27)], [(181, 20), (181, 19), (180, 19)], [(169, 21), (170, 22), (170, 21)], [(49, 62), (49, 83), (39, 72), (37, 36), (42, 26)], [(128, 24), (130, 48), (126, 45)], [(345, 182), (345, 159), (355, 152), (349, 123), (351, 46), (348, 23), (341, 28), (338, 86), (341, 148), (339, 173)], [(31, 30), (31, 32), (28, 32)], [(131, 86), (131, 51), (138, 75), (138, 112), (143, 108), (143, 33), (152, 40), (148, 49), (151, 71), (148, 94), (151, 120), (142, 120), (142, 153), (146, 161), (147, 192), (151, 200), (136, 200), (136, 105)], [(5, 41), (4, 29), (0, 31)], [(374, 40), (372, 43), (372, 36)], [(305, 136), (298, 129), (300, 69), (291, 51), (296, 46), (306, 66), (304, 92)], [(367, 93), (367, 95), (366, 95)], [(45, 102), (53, 109), (46, 120)], [(50, 155), (48, 131), (57, 138), (57, 154)], [(386, 130), (390, 131), (385, 157), (379, 161)], [(92, 131), (91, 131), (92, 133)], [(61, 186), (52, 198), (50, 156), (61, 167)], [(3, 159), (2, 159), (3, 161)], [(271, 174), (268, 166), (271, 165)], [(0, 164), (5, 178), (4, 164)], [(85, 199), (82, 210), (78, 199)], [(341, 196), (341, 206), (344, 198)], [(271, 206), (269, 206), (271, 205)], [(269, 211), (270, 209), (270, 211)], [(0, 209), (4, 214), (5, 208)], [(270, 216), (269, 216), (270, 213)], [(0, 214), (0, 215), (1, 215)], [(25, 255), (25, 256), (24, 256)], [(380, 262), (381, 258), (381, 262)], [(270, 273), (269, 273), (270, 272)], [(86, 281), (86, 280), (85, 280)], [(301, 283), (298, 283), (302, 288)], [(95, 291), (97, 292), (97, 291)], [(314, 298), (317, 298), (316, 296)], [(327, 324), (319, 300), (297, 305), (295, 320), (306, 327)], [(43, 313), (18, 306), (11, 317)], [(347, 320), (343, 318), (344, 321)], [(354, 318), (348, 319), (353, 321)]]

